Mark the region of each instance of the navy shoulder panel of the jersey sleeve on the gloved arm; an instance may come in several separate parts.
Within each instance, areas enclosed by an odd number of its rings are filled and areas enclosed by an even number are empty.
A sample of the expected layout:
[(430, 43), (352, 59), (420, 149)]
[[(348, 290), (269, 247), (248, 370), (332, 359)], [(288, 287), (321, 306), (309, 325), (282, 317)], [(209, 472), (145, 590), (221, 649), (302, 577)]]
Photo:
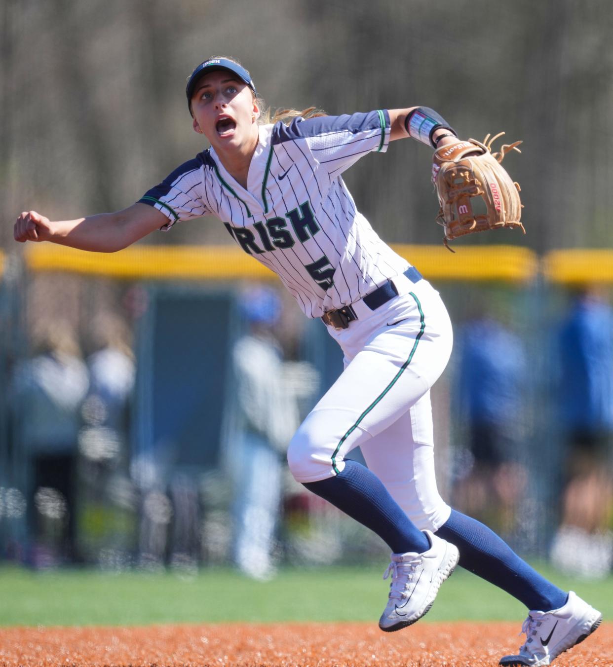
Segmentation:
[[(277, 123), (272, 130), (271, 143), (283, 143), (295, 139), (306, 139), (323, 134), (336, 132), (364, 132), (373, 129), (381, 129), (383, 121), (380, 111), (369, 111), (368, 113), (354, 113), (352, 115), (340, 116), (318, 116), (316, 118), (295, 118), (289, 125)], [(389, 115), (386, 125), (389, 126)], [(385, 130), (385, 128), (384, 128)]]

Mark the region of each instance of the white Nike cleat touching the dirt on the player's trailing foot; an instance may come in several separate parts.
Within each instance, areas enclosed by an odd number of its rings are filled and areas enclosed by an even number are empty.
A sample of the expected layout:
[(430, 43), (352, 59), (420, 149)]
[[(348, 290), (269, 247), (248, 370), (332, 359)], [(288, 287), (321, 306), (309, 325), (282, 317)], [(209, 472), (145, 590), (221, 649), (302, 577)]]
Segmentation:
[(504, 656), (501, 665), (541, 667), (551, 664), (560, 653), (582, 642), (602, 622), (602, 614), (574, 592), (566, 604), (550, 612), (528, 612), (522, 625), (526, 644), (516, 656)]

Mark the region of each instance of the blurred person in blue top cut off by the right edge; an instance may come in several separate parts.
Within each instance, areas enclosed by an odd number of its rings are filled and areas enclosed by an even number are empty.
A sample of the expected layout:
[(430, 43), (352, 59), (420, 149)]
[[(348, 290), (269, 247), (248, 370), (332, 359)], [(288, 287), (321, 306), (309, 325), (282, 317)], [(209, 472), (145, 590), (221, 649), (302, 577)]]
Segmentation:
[(566, 572), (606, 576), (613, 560), (613, 309), (602, 288), (572, 295), (557, 352), (564, 493), (552, 562)]

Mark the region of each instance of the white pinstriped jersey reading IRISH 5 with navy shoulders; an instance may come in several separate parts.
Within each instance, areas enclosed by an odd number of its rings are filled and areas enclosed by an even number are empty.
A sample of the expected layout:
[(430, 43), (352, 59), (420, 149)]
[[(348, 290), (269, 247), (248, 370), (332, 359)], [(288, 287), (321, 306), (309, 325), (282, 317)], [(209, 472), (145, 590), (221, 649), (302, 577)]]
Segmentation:
[(308, 317), (362, 298), (408, 268), (357, 209), (342, 172), (386, 151), (387, 111), (294, 119), (259, 128), (247, 189), (214, 149), (175, 169), (139, 199), (175, 222), (223, 221), (243, 250), (277, 273)]

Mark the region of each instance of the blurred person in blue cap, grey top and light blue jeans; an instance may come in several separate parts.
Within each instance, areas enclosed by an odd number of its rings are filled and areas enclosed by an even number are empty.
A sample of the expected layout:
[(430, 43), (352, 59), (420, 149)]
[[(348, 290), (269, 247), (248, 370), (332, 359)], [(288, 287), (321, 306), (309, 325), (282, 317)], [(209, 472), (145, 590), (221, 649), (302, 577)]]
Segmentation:
[(283, 462), (299, 414), (283, 379), (283, 352), (275, 336), (281, 316), (277, 293), (250, 287), (239, 297), (239, 312), (247, 330), (232, 352), (233, 560), (244, 574), (266, 579), (275, 570)]

